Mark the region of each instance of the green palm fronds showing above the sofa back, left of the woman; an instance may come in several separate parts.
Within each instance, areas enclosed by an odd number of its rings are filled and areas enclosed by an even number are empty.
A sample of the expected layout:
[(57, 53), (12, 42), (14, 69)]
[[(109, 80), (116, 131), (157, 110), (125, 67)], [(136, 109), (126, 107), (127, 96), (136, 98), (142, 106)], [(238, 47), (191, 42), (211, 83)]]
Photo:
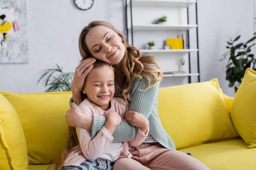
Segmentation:
[(55, 68), (49, 68), (42, 70), (40, 73), (40, 81), (44, 82), (44, 86), (48, 87), (46, 92), (50, 91), (71, 91), (71, 84), (74, 77), (74, 73), (64, 73), (62, 67), (57, 64)]

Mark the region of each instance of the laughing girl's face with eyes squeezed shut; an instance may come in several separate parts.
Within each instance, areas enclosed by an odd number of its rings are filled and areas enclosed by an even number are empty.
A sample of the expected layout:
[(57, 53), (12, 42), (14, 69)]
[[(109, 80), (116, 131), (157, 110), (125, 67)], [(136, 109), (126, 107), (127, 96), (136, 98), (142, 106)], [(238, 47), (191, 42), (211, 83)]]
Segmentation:
[(110, 100), (115, 93), (113, 68), (110, 66), (93, 68), (86, 77), (82, 92), (100, 108), (108, 110)]

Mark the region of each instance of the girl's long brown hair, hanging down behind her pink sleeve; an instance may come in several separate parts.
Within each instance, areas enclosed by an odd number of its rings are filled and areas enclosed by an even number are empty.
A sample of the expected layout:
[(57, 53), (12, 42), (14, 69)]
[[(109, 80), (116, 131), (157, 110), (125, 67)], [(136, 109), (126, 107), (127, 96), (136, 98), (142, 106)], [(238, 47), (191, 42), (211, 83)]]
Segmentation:
[[(81, 60), (82, 62), (82, 60)], [(101, 68), (104, 66), (109, 66), (111, 68), (113, 68), (110, 64), (103, 62), (101, 60), (96, 60), (95, 63), (93, 63), (93, 69), (94, 68)], [(86, 78), (85, 78), (86, 79)], [(82, 101), (84, 99), (87, 98), (86, 94), (83, 94), (81, 92), (82, 95)], [(66, 145), (65, 145), (65, 150), (62, 152), (61, 154), (61, 158), (59, 158), (57, 161), (53, 162), (48, 168), (47, 170), (54, 168), (54, 170), (61, 170), (64, 164), (64, 160), (67, 159), (68, 154), (70, 153), (71, 149), (73, 147), (76, 147), (79, 145), (79, 139), (76, 133), (76, 127), (71, 127), (70, 125), (68, 125), (68, 132), (67, 132), (67, 139), (66, 139)]]

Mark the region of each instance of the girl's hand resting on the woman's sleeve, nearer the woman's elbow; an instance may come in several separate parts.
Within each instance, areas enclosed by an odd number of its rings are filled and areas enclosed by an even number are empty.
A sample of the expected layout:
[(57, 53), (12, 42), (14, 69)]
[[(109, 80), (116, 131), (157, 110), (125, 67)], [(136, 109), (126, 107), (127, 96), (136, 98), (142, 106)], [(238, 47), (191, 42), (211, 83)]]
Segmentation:
[(143, 116), (140, 113), (137, 113), (134, 111), (128, 111), (125, 114), (125, 120), (131, 125), (140, 127), (140, 130), (143, 131), (143, 133), (146, 133), (148, 130), (148, 126), (149, 126), (148, 119), (145, 118), (145, 116)]

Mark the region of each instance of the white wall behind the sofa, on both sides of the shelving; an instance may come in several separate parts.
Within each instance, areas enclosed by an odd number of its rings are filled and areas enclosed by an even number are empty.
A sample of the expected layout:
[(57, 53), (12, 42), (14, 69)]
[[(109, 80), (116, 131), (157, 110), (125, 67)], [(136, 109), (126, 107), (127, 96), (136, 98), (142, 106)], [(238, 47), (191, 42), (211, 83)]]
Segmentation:
[[(241, 34), (241, 40), (247, 40), (252, 36), (253, 0), (198, 1), (201, 81), (218, 78), (224, 93), (233, 96), (225, 80), (226, 62), (219, 59), (229, 37)], [(80, 60), (78, 37), (90, 21), (105, 20), (125, 31), (123, 0), (95, 0), (88, 11), (76, 8), (73, 0), (26, 2), (29, 63), (0, 65), (0, 91), (43, 92), (46, 88), (37, 85), (36, 74), (55, 63), (73, 72)]]

